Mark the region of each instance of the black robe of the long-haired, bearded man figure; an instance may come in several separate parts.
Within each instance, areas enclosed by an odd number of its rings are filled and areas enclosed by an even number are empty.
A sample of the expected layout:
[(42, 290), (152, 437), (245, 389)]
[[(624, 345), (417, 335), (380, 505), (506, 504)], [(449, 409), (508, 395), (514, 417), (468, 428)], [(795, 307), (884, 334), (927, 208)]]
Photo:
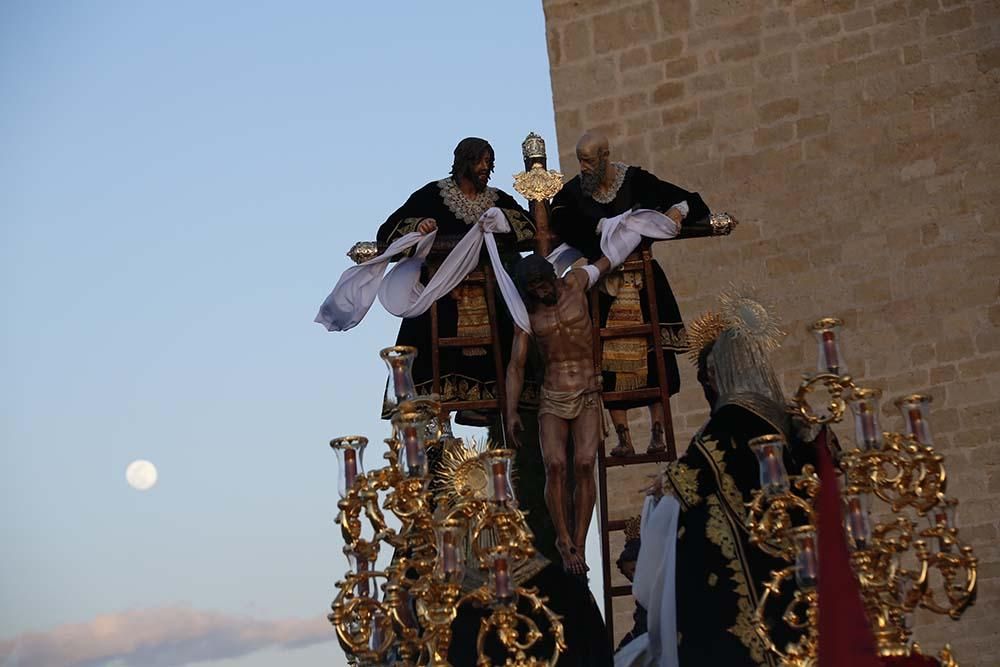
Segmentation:
[[(440, 265), (454, 242), (457, 242), (469, 231), (478, 219), (478, 215), (469, 218), (459, 217), (445, 201), (442, 184), (450, 179), (432, 181), (420, 188), (406, 200), (379, 227), (377, 241), (380, 248), (409, 232), (415, 231), (417, 224), (423, 218), (433, 218), (437, 222), (437, 239), (434, 249), (428, 257), (422, 281), (426, 284), (433, 270)], [(506, 192), (491, 188), (496, 193), (494, 206), (503, 210), (510, 222), (512, 231), (506, 234), (496, 234), (494, 237), (500, 250), (501, 261), (508, 270), (517, 261), (519, 249), (532, 249), (535, 226), (527, 211)], [(484, 209), (485, 210), (485, 209)], [(479, 211), (481, 213), (482, 211)], [(489, 263), (485, 246), (480, 257), (480, 266)], [(456, 288), (457, 291), (458, 288)], [(455, 293), (442, 297), (437, 302), (439, 335), (452, 337), (457, 335), (458, 303)], [(500, 347), (504, 355), (504, 368), (510, 355), (513, 340), (513, 320), (507, 312), (499, 292), (496, 293), (498, 325), (500, 330)], [(413, 381), (419, 394), (432, 393), (433, 371), (431, 363), (431, 314), (428, 310), (423, 315), (404, 318), (396, 337), (397, 345), (412, 345), (417, 348), (417, 358), (413, 365)], [(450, 348), (441, 350), (441, 393), (443, 400), (483, 400), (496, 397), (496, 369), (492, 350), (486, 349), (486, 354), (468, 356), (462, 349)], [(383, 411), (383, 417), (388, 414)], [(473, 425), (481, 425), (479, 419), (469, 421)], [(459, 423), (469, 423), (463, 419), (463, 414), (456, 417)]]

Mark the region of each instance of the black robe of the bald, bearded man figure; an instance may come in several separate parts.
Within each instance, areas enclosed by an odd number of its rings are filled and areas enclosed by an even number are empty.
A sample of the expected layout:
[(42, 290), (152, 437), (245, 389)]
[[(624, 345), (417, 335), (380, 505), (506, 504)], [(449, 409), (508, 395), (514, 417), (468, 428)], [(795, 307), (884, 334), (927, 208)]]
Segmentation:
[[(597, 223), (601, 218), (610, 218), (632, 208), (649, 208), (666, 212), (671, 206), (681, 201), (687, 201), (689, 212), (686, 221), (697, 222), (709, 216), (708, 207), (697, 192), (688, 192), (672, 183), (661, 181), (653, 174), (639, 168), (628, 167), (625, 180), (615, 198), (607, 204), (595, 201), (584, 194), (580, 186), (580, 177), (571, 179), (552, 200), (552, 229), (559, 238), (582, 252), (591, 261), (601, 256), (600, 236), (597, 234)], [(661, 344), (668, 352), (664, 355), (667, 382), (670, 393), (676, 394), (680, 389), (680, 375), (677, 371), (677, 361), (674, 353), (684, 351), (686, 336), (684, 322), (681, 319), (677, 300), (670, 289), (670, 283), (658, 263), (653, 264), (653, 276), (656, 286), (657, 310), (659, 311)], [(607, 325), (608, 313), (614, 298), (601, 292), (601, 326)], [(646, 289), (639, 290), (643, 322), (649, 321)], [(658, 387), (656, 363), (652, 351), (647, 355), (647, 387)], [(604, 391), (614, 391), (615, 373), (603, 373)], [(655, 403), (658, 399), (642, 399), (607, 403), (609, 408), (630, 408)]]

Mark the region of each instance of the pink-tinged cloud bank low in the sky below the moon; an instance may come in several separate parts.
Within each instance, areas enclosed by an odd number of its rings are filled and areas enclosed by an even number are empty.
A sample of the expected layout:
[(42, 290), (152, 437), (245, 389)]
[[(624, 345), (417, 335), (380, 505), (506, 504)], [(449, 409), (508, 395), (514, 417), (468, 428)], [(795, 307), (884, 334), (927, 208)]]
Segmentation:
[(181, 667), (330, 641), (326, 619), (260, 620), (187, 606), (96, 616), (0, 641), (2, 667)]

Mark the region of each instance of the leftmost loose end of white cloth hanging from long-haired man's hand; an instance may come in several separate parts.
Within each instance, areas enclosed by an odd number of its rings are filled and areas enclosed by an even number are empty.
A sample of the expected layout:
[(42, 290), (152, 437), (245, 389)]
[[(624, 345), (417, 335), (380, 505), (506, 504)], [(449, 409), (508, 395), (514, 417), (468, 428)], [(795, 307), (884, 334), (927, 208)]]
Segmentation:
[[(385, 273), (389, 261), (399, 253), (417, 246), (414, 256), (403, 260), (400, 264), (409, 262), (415, 265), (419, 277), (420, 266), (430, 253), (436, 236), (437, 231), (426, 235), (419, 232), (404, 234), (393, 241), (381, 255), (357, 266), (348, 267), (340, 275), (340, 279), (323, 301), (323, 305), (319, 307), (319, 313), (313, 321), (322, 324), (327, 331), (347, 331), (356, 327), (375, 302), (382, 274)], [(393, 270), (398, 268), (399, 265)]]

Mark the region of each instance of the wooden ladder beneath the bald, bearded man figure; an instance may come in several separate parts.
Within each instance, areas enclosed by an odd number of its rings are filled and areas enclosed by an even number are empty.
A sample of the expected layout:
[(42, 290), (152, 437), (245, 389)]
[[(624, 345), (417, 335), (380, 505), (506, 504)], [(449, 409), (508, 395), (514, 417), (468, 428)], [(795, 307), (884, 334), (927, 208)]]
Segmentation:
[[(677, 458), (677, 446), (674, 440), (673, 419), (670, 415), (670, 387), (668, 386), (666, 363), (663, 357), (663, 345), (660, 342), (660, 313), (656, 301), (656, 284), (653, 280), (653, 256), (651, 251), (652, 243), (643, 241), (642, 245), (622, 264), (625, 271), (642, 271), (643, 282), (646, 287), (647, 305), (649, 306), (649, 321), (645, 324), (637, 324), (624, 327), (610, 327), (600, 329), (600, 344), (594, 345), (594, 363), (596, 368), (602, 368), (602, 356), (604, 341), (612, 338), (625, 338), (628, 336), (646, 336), (651, 341), (653, 354), (656, 360), (656, 376), (659, 378), (659, 387), (634, 389), (630, 391), (604, 392), (604, 401), (619, 401), (641, 398), (659, 398), (663, 404), (663, 435), (666, 440), (666, 451), (655, 454), (633, 454), (631, 456), (608, 456), (606, 444), (602, 442), (597, 457), (597, 484), (599, 498), (599, 525), (601, 530), (601, 568), (604, 576), (604, 622), (608, 629), (608, 638), (614, 646), (614, 607), (613, 600), (616, 597), (632, 595), (631, 585), (612, 586), (611, 567), (614, 557), (611, 554), (611, 533), (625, 530), (625, 520), (608, 518), (608, 468), (621, 466), (632, 466), (648, 463), (663, 463), (673, 461)], [(591, 318), (594, 326), (600, 324), (599, 294), (596, 289), (590, 293)]]

